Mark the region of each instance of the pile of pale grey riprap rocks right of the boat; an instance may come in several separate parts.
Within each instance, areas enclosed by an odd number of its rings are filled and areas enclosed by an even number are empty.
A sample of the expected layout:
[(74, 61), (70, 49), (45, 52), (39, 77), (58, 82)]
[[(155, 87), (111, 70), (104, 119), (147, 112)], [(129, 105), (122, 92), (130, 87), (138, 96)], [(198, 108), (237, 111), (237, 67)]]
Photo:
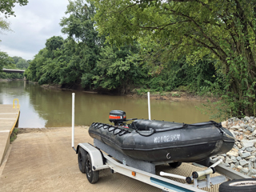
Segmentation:
[(256, 118), (230, 118), (222, 126), (230, 130), (236, 142), (228, 153), (211, 158), (222, 159), (222, 165), (256, 178)]

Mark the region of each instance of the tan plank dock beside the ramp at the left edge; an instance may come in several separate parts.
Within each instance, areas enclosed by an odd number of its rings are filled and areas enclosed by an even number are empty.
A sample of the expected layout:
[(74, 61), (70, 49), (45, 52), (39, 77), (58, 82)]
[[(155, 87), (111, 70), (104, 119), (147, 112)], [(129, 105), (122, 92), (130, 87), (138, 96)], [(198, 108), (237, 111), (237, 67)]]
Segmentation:
[(18, 126), (18, 105), (0, 105), (0, 166), (10, 146), (10, 134)]

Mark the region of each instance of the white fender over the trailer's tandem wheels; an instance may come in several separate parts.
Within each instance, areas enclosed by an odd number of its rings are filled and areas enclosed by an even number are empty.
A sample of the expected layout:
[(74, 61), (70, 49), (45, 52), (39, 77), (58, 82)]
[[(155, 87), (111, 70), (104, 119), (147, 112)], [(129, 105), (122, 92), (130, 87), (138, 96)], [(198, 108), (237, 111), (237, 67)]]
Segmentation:
[(104, 165), (102, 151), (98, 150), (94, 146), (90, 145), (90, 143), (86, 142), (78, 144), (76, 151), (77, 154), (80, 147), (82, 147), (82, 149), (86, 150), (86, 152), (90, 154), (93, 171), (109, 168), (109, 166)]

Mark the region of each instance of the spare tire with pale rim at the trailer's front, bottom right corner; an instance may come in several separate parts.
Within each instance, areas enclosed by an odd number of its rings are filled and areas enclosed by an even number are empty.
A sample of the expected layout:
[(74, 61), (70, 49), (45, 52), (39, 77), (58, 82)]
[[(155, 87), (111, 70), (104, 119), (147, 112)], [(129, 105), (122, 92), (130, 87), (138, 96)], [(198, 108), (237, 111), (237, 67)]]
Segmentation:
[(242, 178), (229, 182), (223, 182), (219, 186), (219, 192), (251, 192), (256, 191), (255, 178)]

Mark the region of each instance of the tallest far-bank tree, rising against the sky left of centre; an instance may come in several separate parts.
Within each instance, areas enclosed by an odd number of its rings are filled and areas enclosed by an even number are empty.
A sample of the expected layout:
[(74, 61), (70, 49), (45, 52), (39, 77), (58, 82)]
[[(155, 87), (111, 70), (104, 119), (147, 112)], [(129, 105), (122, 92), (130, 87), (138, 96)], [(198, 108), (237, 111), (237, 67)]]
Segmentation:
[(74, 51), (76, 58), (73, 58), (73, 64), (68, 66), (72, 66), (70, 70), (77, 70), (74, 71), (74, 77), (82, 77), (79, 79), (82, 86), (90, 86), (92, 70), (96, 66), (103, 44), (102, 38), (98, 37), (98, 31), (94, 28), (95, 22), (91, 19), (95, 14), (95, 6), (86, 0), (69, 2), (66, 10), (69, 17), (62, 18), (60, 22), (62, 33), (68, 34), (69, 38), (77, 43)]

